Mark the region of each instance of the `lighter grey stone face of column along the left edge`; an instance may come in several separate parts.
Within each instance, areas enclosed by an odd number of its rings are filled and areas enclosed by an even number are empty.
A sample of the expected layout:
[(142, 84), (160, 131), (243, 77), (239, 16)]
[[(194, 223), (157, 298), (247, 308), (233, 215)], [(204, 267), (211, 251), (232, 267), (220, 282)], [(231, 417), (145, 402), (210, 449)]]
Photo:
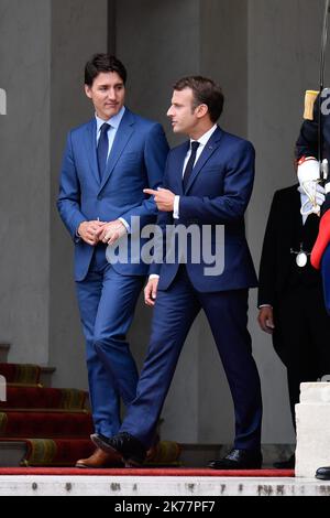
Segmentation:
[(0, 3), (0, 339), (10, 359), (47, 364), (51, 1)]

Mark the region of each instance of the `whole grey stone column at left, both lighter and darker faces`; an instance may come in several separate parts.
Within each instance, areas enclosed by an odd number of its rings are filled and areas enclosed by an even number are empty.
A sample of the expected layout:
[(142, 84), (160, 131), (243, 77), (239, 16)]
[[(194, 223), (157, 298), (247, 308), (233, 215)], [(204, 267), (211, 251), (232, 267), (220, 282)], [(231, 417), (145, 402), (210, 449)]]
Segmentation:
[(75, 387), (86, 386), (84, 341), (55, 203), (66, 132), (94, 114), (84, 64), (107, 44), (107, 0), (0, 3), (0, 339), (9, 360), (54, 364)]

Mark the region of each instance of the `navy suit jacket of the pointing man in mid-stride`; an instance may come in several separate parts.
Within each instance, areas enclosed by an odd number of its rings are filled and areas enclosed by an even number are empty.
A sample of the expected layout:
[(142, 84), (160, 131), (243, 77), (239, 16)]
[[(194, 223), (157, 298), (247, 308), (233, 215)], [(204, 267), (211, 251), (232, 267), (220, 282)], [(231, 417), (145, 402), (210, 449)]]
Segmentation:
[[(200, 292), (238, 290), (257, 285), (256, 274), (245, 239), (244, 213), (254, 181), (253, 145), (219, 127), (212, 133), (195, 164), (186, 192), (183, 191), (183, 166), (189, 142), (173, 149), (167, 158), (164, 185), (180, 196), (179, 219), (172, 213), (160, 213), (157, 224), (166, 234), (166, 225), (209, 225), (212, 252), (215, 252), (216, 226), (224, 225), (224, 271), (219, 276), (206, 276), (209, 268), (204, 260), (193, 263), (187, 258), (187, 271), (195, 289)], [(158, 289), (166, 290), (178, 270), (175, 263), (153, 265), (151, 273), (161, 276)]]

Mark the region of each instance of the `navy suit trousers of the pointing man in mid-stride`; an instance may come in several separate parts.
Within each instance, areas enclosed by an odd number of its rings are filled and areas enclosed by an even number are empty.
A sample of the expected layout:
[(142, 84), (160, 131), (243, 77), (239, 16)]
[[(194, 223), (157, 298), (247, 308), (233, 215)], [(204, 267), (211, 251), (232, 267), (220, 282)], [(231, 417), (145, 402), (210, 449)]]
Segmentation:
[(209, 321), (234, 402), (234, 447), (258, 449), (262, 398), (246, 327), (248, 290), (198, 292), (184, 266), (166, 291), (158, 290), (150, 347), (136, 398), (130, 404), (120, 431), (136, 436), (146, 447), (152, 444), (180, 350), (200, 309)]

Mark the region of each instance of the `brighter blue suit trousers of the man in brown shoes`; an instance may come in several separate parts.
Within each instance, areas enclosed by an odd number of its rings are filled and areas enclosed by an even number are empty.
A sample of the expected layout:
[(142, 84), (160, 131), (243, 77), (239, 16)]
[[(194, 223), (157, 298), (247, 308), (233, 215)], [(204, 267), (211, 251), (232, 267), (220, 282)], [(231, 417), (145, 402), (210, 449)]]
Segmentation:
[(95, 430), (107, 436), (120, 429), (120, 398), (136, 395), (138, 369), (127, 341), (144, 277), (122, 276), (99, 245), (87, 277), (76, 282), (86, 338), (89, 393)]

